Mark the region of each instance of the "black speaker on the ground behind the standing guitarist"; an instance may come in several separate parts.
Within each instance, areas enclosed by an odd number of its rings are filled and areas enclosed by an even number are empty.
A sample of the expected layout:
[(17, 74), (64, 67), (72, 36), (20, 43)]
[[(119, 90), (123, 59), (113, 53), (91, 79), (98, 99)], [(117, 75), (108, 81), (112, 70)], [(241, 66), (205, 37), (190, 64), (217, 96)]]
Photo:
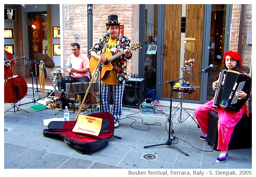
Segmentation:
[(123, 107), (139, 108), (144, 101), (144, 80), (131, 78), (126, 82), (123, 91)]

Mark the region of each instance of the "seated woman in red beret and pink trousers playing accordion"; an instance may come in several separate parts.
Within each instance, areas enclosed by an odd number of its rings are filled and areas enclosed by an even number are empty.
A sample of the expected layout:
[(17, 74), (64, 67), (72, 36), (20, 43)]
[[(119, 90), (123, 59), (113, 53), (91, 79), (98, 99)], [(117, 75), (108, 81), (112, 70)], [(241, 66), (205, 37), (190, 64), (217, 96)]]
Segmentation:
[[(228, 51), (223, 54), (223, 64), (221, 66), (221, 70), (234, 70), (237, 72), (241, 72), (248, 76), (248, 74), (242, 70), (242, 58), (239, 53), (234, 51)], [(218, 88), (219, 79), (213, 82), (212, 87), (213, 90), (216, 91)], [(241, 100), (247, 97), (247, 93), (244, 91), (238, 91), (235, 93), (237, 99)], [(220, 150), (220, 155), (216, 159), (217, 163), (223, 163), (228, 158), (228, 144), (231, 139), (231, 135), (234, 131), (235, 125), (242, 118), (243, 114), (247, 114), (249, 116), (249, 110), (247, 108), (247, 104), (245, 103), (239, 111), (232, 111), (229, 109), (223, 109), (220, 107), (213, 107), (213, 100), (204, 103), (203, 105), (197, 107), (195, 109), (194, 114), (197, 118), (198, 124), (203, 133), (199, 138), (201, 140), (207, 139), (207, 131), (208, 131), (208, 120), (209, 120), (209, 111), (215, 110), (218, 112), (218, 146), (217, 149)]]

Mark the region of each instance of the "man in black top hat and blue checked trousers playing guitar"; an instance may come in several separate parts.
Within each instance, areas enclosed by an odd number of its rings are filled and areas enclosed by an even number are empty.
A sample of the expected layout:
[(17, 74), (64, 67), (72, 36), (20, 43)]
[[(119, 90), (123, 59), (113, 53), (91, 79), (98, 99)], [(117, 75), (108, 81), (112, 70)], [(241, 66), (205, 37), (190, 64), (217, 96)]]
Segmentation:
[[(109, 15), (106, 23), (108, 33), (98, 40), (98, 42), (92, 47), (88, 53), (90, 54), (91, 61), (99, 61), (101, 58), (102, 68), (110, 67), (111, 70), (105, 73), (101, 77), (102, 89), (101, 89), (101, 112), (109, 112), (109, 98), (113, 98), (113, 107), (111, 114), (114, 117), (115, 128), (119, 126), (122, 115), (122, 99), (125, 82), (127, 80), (127, 60), (132, 58), (132, 53), (128, 49), (130, 47), (130, 40), (120, 34), (120, 23), (118, 23), (117, 15)], [(106, 44), (106, 46), (105, 46)], [(118, 57), (114, 60), (114, 63), (109, 63), (108, 56), (97, 54), (102, 49), (106, 50), (106, 53), (116, 54)], [(105, 52), (105, 51), (103, 51)], [(119, 56), (120, 54), (120, 56)], [(96, 68), (97, 69), (97, 68)], [(91, 68), (90, 71), (94, 72), (95, 68)]]

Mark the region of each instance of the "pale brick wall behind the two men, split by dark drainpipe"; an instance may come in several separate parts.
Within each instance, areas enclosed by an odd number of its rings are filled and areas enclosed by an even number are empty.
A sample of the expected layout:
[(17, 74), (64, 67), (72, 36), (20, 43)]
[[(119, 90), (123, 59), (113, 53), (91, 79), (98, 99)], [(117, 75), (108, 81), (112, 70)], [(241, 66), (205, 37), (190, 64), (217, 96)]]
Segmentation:
[[(112, 14), (118, 15), (118, 21), (124, 25), (124, 35), (131, 41), (134, 41), (133, 35), (133, 12), (134, 5), (92, 5), (92, 45), (94, 45), (100, 36), (107, 32), (107, 17)], [(63, 49), (64, 49), (64, 67), (66, 59), (71, 53), (70, 44), (78, 42), (83, 53), (88, 53), (87, 39), (87, 5), (63, 5)], [(83, 14), (83, 15), (81, 15)], [(68, 21), (68, 16), (70, 21)], [(79, 39), (74, 38), (74, 34), (79, 34)], [(128, 71), (131, 70), (131, 63), (128, 63)]]

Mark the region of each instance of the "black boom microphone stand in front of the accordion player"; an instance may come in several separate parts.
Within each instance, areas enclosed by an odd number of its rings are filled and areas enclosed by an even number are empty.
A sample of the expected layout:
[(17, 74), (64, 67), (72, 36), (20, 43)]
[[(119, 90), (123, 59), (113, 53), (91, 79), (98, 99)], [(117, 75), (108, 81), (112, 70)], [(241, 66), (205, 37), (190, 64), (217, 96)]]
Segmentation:
[(147, 147), (155, 147), (155, 146), (161, 146), (161, 145), (167, 145), (167, 146), (174, 147), (174, 148), (177, 149), (178, 151), (180, 151), (180, 152), (182, 152), (183, 154), (185, 154), (186, 156), (188, 156), (188, 154), (187, 154), (186, 152), (182, 151), (181, 149), (179, 149), (178, 147), (175, 147), (175, 146), (172, 144), (173, 138), (171, 138), (171, 108), (172, 108), (172, 102), (173, 102), (173, 86), (174, 86), (174, 82), (177, 82), (177, 81), (179, 81), (179, 80), (181, 80), (181, 79), (186, 79), (186, 78), (188, 78), (188, 77), (192, 77), (192, 76), (196, 76), (196, 75), (201, 75), (201, 74), (206, 73), (206, 72), (208, 72), (208, 70), (200, 71), (200, 72), (198, 72), (198, 73), (195, 74), (195, 75), (191, 75), (191, 76), (187, 76), (187, 77), (183, 77), (183, 78), (180, 78), (180, 79), (175, 79), (175, 80), (172, 80), (172, 81), (168, 81), (168, 82), (162, 83), (162, 85), (170, 84), (170, 86), (171, 86), (170, 114), (169, 114), (169, 117), (168, 117), (168, 120), (167, 120), (167, 121), (169, 122), (168, 139), (166, 140), (166, 143), (144, 146), (144, 148), (147, 148)]

